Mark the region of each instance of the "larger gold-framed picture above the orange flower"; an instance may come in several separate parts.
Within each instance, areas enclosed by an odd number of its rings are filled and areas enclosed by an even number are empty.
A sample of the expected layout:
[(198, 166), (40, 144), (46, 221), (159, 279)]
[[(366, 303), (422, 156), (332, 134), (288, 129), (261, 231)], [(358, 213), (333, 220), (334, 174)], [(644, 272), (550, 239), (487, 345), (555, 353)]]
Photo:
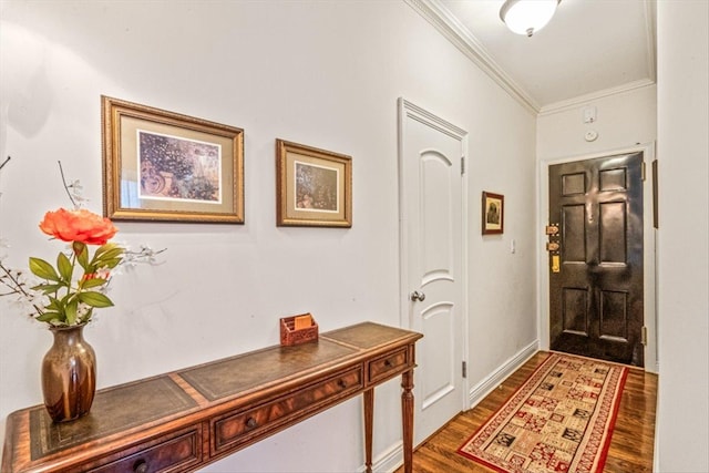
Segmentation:
[(244, 223), (244, 130), (107, 96), (102, 121), (106, 217)]

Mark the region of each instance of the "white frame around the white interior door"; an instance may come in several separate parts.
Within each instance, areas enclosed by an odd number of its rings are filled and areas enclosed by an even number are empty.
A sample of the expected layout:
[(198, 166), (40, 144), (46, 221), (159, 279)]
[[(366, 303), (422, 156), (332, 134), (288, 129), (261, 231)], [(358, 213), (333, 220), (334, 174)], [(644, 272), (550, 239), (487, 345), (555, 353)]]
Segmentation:
[[(413, 103), (407, 101), (403, 97), (399, 97), (397, 101), (399, 109), (399, 131), (398, 134), (398, 154), (399, 154), (399, 317), (400, 325), (404, 329), (411, 329), (411, 320), (409, 319), (409, 295), (410, 290), (413, 287), (409, 281), (409, 261), (408, 261), (408, 251), (409, 251), (409, 241), (405, 232), (405, 219), (404, 219), (404, 209), (405, 209), (405, 191), (407, 183), (403, 179), (403, 173), (401, 172), (401, 166), (403, 165), (403, 136), (405, 130), (405, 119), (412, 117), (422, 123), (427, 123), (430, 126), (434, 126), (439, 128), (441, 132), (452, 135), (461, 140), (463, 147), (463, 156), (464, 160), (464, 173), (461, 176), (461, 323), (463, 336), (461, 337), (463, 346), (461, 347), (463, 359), (461, 362), (464, 362), (469, 366), (469, 346), (470, 346), (470, 335), (469, 335), (469, 291), (467, 291), (467, 271), (469, 271), (469, 259), (467, 259), (467, 227), (469, 227), (469, 205), (467, 205), (467, 169), (470, 169), (470, 163), (467, 158), (467, 132), (464, 130), (449, 123), (448, 121), (434, 115), (433, 113), (414, 105)], [(461, 368), (462, 369), (462, 368)], [(415, 373), (415, 371), (414, 371)], [(414, 377), (415, 383), (415, 377)], [(461, 389), (461, 410), (466, 411), (470, 409), (470, 381), (467, 377), (463, 378), (462, 389)], [(415, 421), (414, 421), (415, 424)]]

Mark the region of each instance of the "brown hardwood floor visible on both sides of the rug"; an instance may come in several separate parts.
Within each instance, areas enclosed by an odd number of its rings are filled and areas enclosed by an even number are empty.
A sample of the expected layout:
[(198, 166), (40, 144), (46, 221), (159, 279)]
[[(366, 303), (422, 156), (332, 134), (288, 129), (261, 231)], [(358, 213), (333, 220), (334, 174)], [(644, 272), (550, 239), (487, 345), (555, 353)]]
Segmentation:
[[(497, 411), (545, 358), (545, 352), (536, 353), (474, 409), (460, 413), (422, 443), (413, 454), (413, 471), (415, 473), (490, 473), (492, 470), (455, 452), (490, 415)], [(631, 368), (623, 390), (604, 472), (649, 473), (653, 471), (656, 402), (657, 376)], [(402, 472), (403, 469), (400, 467), (395, 473)]]

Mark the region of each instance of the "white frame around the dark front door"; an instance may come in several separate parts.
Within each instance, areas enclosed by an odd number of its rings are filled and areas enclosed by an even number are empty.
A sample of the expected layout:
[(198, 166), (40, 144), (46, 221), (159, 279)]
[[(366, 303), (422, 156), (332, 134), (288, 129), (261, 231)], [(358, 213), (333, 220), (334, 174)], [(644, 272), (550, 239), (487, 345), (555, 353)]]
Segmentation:
[(653, 225), (653, 176), (651, 166), (655, 160), (655, 142), (638, 144), (635, 146), (608, 150), (593, 154), (583, 154), (576, 156), (553, 157), (540, 161), (540, 193), (538, 208), (540, 223), (537, 225), (537, 274), (540, 275), (537, 284), (538, 308), (537, 308), (537, 337), (540, 339), (540, 348), (542, 350), (549, 349), (549, 271), (548, 271), (548, 254), (544, 249), (546, 235), (544, 235), (544, 226), (549, 222), (549, 179), (548, 166), (554, 164), (572, 163), (576, 161), (593, 160), (596, 157), (613, 156), (616, 154), (626, 154), (643, 152), (643, 163), (645, 165), (645, 182), (643, 183), (643, 251), (644, 251), (644, 319), (647, 328), (647, 345), (645, 346), (645, 370), (649, 372), (659, 372), (659, 360), (657, 358), (657, 310), (656, 310), (656, 229)]

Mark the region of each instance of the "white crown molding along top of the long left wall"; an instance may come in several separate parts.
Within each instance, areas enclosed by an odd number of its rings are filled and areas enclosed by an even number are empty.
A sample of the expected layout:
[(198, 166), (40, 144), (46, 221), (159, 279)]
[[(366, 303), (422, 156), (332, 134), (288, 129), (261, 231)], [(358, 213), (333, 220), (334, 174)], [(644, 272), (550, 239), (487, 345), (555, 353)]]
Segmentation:
[(443, 37), (455, 45), (465, 56), (485, 72), (497, 85), (514, 100), (533, 113), (540, 113), (540, 104), (527, 94), (487, 53), (480, 41), (464, 28), (436, 0), (403, 0), (417, 13), (431, 23)]

